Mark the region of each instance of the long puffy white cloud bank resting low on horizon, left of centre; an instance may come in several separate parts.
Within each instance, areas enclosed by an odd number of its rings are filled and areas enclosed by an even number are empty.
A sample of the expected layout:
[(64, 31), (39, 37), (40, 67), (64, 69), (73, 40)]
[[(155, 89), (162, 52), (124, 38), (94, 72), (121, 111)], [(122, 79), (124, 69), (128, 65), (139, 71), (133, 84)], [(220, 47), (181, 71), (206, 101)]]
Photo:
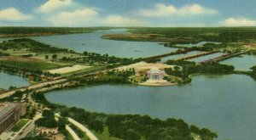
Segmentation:
[(55, 26), (138, 26), (144, 22), (121, 15), (102, 17), (96, 8), (76, 9), (72, 12), (60, 12), (50, 15), (48, 21)]

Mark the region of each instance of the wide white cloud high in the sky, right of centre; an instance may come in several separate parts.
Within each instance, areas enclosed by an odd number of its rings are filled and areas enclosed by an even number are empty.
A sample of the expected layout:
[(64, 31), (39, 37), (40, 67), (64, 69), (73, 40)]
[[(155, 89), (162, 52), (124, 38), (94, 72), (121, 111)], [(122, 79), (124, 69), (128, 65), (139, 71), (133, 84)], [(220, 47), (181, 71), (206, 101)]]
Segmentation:
[(138, 12), (138, 15), (144, 17), (170, 17), (176, 16), (187, 16), (187, 15), (198, 15), (198, 14), (217, 14), (218, 11), (203, 8), (199, 4), (187, 5), (182, 8), (176, 8), (173, 5), (166, 5), (164, 3), (158, 3), (152, 9), (142, 9)]

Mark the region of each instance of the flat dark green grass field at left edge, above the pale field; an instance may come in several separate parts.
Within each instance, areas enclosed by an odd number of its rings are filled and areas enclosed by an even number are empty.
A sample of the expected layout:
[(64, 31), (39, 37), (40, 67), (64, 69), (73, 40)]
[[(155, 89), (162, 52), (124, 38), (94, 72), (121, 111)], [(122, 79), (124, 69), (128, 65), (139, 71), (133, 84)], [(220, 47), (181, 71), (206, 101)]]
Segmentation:
[(44, 61), (15, 61), (15, 60), (0, 60), (0, 64), (19, 68), (19, 69), (32, 69), (32, 70), (50, 70), (62, 67), (61, 64), (47, 63)]

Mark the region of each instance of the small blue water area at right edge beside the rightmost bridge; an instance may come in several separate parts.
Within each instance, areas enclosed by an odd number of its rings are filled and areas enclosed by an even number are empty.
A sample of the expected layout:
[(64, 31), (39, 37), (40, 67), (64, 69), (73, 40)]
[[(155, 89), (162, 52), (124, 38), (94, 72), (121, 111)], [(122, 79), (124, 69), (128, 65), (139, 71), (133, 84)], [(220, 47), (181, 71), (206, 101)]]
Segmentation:
[(235, 70), (250, 70), (250, 68), (256, 65), (256, 55), (241, 55), (241, 57), (235, 57), (232, 59), (225, 59), (220, 64), (231, 64), (235, 66)]

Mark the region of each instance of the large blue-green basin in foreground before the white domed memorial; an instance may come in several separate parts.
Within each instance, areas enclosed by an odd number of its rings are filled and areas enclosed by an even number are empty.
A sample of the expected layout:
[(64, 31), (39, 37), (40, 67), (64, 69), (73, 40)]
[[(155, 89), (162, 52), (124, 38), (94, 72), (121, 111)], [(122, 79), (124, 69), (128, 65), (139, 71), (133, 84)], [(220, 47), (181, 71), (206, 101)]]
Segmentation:
[(107, 114), (181, 118), (218, 132), (218, 139), (255, 140), (256, 81), (242, 75), (193, 76), (173, 87), (102, 85), (45, 94), (55, 104)]

